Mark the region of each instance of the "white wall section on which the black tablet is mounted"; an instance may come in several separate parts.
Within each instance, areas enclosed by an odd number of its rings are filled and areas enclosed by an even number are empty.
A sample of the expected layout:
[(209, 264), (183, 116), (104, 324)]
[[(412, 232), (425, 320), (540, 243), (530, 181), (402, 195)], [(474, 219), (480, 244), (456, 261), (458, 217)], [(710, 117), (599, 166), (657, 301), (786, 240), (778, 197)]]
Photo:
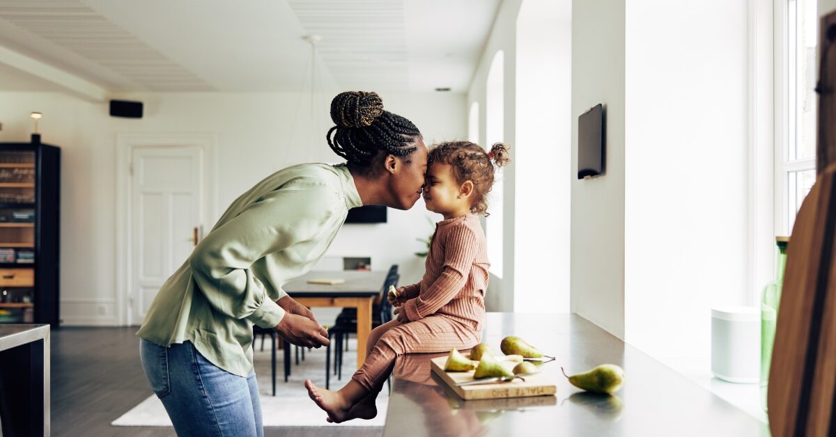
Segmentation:
[[(619, 338), (624, 338), (624, 23), (624, 2), (572, 2), (572, 311)], [(578, 180), (577, 119), (596, 104), (604, 104), (605, 171)]]

